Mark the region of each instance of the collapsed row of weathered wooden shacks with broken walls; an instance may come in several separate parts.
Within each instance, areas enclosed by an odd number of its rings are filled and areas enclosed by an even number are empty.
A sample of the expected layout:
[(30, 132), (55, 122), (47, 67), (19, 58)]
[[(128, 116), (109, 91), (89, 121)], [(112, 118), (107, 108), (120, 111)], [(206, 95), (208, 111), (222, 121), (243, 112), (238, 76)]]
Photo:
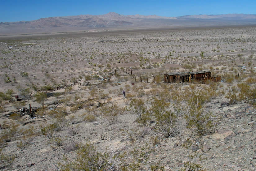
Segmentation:
[(194, 71), (194, 72), (173, 72), (164, 74), (165, 83), (184, 83), (194, 81), (213, 81), (221, 80), (220, 76), (212, 77), (211, 71)]

